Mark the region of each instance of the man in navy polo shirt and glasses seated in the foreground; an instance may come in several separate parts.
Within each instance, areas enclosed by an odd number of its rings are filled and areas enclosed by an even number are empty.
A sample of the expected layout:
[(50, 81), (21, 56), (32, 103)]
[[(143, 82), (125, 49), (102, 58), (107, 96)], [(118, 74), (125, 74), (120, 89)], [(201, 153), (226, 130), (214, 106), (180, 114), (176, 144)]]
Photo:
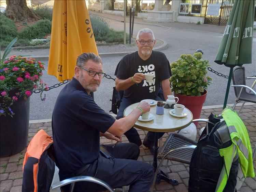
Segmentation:
[[(105, 75), (100, 57), (83, 53), (78, 56), (74, 70), (72, 81), (59, 93), (53, 110), (54, 151), (60, 179), (94, 176), (112, 188), (129, 185), (130, 192), (148, 192), (154, 169), (148, 163), (137, 161), (139, 147), (134, 143), (100, 146), (100, 136), (121, 141), (123, 133), (141, 114), (149, 111), (150, 106), (143, 102), (127, 117), (115, 120), (89, 94), (97, 91)], [(103, 190), (98, 184), (77, 182), (74, 191)]]

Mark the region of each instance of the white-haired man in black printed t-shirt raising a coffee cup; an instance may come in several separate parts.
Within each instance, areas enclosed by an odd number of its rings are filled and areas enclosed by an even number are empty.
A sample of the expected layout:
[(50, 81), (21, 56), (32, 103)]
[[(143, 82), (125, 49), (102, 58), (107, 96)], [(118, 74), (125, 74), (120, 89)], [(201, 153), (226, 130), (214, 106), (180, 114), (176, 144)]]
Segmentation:
[[(124, 91), (116, 119), (123, 118), (124, 109), (143, 99), (162, 100), (158, 94), (163, 91), (163, 97), (171, 95), (169, 78), (170, 63), (165, 54), (152, 51), (156, 40), (152, 30), (145, 28), (138, 32), (136, 43), (138, 51), (124, 56), (117, 65), (116, 90)], [(147, 83), (144, 74), (154, 74), (153, 82)], [(164, 133), (158, 133), (158, 138)], [(125, 133), (129, 142), (140, 146), (141, 139), (133, 127)], [(154, 133), (148, 132), (143, 141), (153, 154)]]

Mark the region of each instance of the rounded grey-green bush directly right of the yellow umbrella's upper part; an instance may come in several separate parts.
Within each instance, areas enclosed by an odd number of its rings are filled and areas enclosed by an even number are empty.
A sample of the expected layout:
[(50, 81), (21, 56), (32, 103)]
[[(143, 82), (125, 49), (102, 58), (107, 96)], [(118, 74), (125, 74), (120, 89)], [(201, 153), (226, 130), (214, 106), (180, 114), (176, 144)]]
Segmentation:
[(109, 23), (106, 22), (102, 17), (99, 17), (95, 14), (90, 14), (90, 20), (95, 40), (105, 36), (110, 32)]

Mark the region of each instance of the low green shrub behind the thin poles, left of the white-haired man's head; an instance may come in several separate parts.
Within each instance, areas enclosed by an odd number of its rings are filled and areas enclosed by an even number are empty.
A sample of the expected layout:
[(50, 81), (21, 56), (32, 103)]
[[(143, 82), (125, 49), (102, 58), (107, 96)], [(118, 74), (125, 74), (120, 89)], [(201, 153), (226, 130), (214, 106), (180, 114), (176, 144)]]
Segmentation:
[[(129, 34), (126, 33), (126, 41), (129, 40)], [(105, 41), (107, 43), (109, 42), (124, 42), (124, 31), (115, 31), (113, 29), (110, 30), (108, 34), (106, 34), (103, 37), (100, 37), (98, 39), (95, 39), (96, 41)]]

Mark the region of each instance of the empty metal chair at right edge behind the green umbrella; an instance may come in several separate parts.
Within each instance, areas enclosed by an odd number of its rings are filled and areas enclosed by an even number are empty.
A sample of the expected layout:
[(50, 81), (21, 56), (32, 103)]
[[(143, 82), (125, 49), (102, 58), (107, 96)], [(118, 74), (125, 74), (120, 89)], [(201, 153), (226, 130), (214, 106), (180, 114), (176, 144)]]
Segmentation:
[[(245, 102), (252, 102), (256, 103), (256, 92), (253, 90), (254, 85), (256, 84), (256, 77), (246, 77), (245, 78), (245, 68), (244, 67), (238, 67), (234, 69), (232, 73), (232, 80), (233, 80), (233, 85), (234, 91), (236, 94), (236, 102), (234, 103), (234, 106), (232, 109), (234, 109), (240, 101), (243, 101), (243, 104), (238, 111), (238, 114), (240, 113), (241, 109), (243, 108)], [(246, 79), (255, 79), (252, 87), (248, 87), (245, 85), (245, 80)], [(248, 89), (248, 92), (247, 90)]]

